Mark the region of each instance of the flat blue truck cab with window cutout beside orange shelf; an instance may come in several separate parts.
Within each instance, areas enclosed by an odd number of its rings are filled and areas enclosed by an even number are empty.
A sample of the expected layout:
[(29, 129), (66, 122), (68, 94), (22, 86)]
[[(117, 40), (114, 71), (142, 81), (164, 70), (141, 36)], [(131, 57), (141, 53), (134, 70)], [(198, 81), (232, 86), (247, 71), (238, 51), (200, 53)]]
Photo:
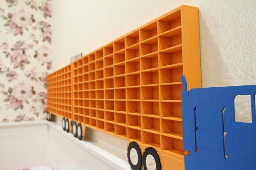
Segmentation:
[[(188, 91), (181, 81), (185, 169), (256, 170), (256, 85)], [(250, 99), (249, 122), (235, 118), (239, 96)]]

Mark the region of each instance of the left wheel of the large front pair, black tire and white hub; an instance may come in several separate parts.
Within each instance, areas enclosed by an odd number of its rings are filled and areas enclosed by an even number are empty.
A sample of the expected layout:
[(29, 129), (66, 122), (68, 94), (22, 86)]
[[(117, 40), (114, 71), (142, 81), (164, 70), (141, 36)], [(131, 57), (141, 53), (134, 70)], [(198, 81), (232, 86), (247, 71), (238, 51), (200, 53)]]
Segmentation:
[(132, 170), (141, 170), (141, 149), (136, 142), (129, 143), (129, 146), (127, 148), (127, 157)]

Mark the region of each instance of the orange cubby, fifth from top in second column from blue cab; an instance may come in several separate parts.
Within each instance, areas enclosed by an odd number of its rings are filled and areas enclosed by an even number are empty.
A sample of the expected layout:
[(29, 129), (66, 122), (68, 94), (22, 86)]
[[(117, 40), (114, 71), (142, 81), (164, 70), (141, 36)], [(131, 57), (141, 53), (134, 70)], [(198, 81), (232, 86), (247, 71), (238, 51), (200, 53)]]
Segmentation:
[(142, 100), (159, 100), (159, 86), (141, 87)]

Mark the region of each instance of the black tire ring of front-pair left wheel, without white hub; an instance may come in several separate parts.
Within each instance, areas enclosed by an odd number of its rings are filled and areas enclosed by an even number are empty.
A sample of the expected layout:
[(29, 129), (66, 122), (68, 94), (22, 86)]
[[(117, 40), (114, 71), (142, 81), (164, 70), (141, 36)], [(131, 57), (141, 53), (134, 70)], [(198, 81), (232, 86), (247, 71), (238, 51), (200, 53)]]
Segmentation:
[[(130, 151), (131, 151), (132, 148), (134, 148), (137, 151), (137, 154), (138, 154), (138, 163), (137, 163), (137, 165), (133, 165), (132, 161), (131, 161)], [(141, 155), (141, 149), (140, 149), (139, 145), (137, 144), (137, 142), (129, 143), (129, 146), (127, 148), (127, 157), (128, 157), (128, 162), (129, 162), (132, 170), (141, 170), (142, 155)]]

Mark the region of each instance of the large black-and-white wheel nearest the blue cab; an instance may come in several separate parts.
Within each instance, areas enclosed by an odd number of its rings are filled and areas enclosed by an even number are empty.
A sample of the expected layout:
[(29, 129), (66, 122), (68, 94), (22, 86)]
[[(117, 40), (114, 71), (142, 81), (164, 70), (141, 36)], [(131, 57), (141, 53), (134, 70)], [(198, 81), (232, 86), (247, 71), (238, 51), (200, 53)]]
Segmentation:
[(148, 147), (143, 153), (144, 170), (161, 170), (159, 155), (153, 147)]

